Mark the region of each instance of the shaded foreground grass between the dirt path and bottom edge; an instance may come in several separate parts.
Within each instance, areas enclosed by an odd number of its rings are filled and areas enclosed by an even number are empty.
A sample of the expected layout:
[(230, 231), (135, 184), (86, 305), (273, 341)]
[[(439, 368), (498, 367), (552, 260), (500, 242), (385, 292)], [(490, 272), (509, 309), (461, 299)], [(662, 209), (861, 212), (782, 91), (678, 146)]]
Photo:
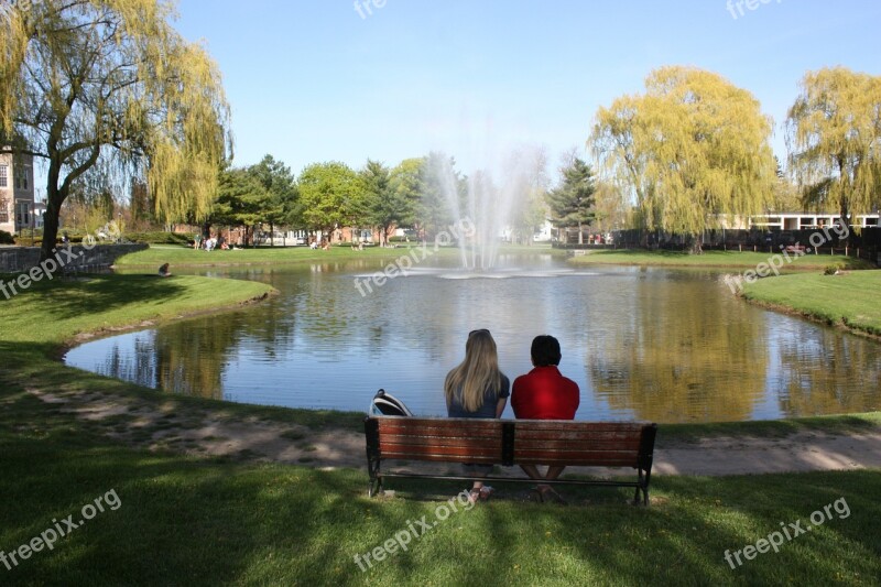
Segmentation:
[[(873, 585), (881, 575), (878, 471), (655, 477), (648, 509), (626, 504), (624, 490), (567, 489), (564, 508), (499, 487), (504, 499), (457, 506), (406, 552), (361, 572), (356, 554), (423, 517), (433, 524), (461, 488), (401, 481), (394, 499), (370, 500), (361, 471), (133, 450), (35, 402), (3, 396), (31, 418), (0, 423), (0, 548), (30, 542), (53, 519), (78, 521), (108, 491), (121, 504), (52, 552), (0, 568), (4, 585)], [(780, 553), (737, 569), (724, 561), (726, 550), (781, 522), (804, 526), (840, 498), (849, 517), (833, 510)]]

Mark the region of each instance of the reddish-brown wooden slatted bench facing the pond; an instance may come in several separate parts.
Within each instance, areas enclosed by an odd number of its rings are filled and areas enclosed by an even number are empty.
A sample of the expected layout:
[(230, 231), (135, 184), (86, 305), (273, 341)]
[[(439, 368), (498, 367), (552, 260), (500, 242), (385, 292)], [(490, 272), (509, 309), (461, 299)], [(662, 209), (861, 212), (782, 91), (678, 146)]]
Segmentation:
[[(574, 422), (569, 420), (478, 420), (448, 417), (368, 416), (368, 494), (382, 489), (387, 477), (470, 480), (455, 475), (384, 472), (383, 460), (469, 463), (479, 465), (559, 465), (630, 467), (633, 481), (557, 479), (555, 485), (634, 487), (634, 503), (649, 504), (649, 480), (656, 424)], [(500, 482), (537, 482), (526, 477), (486, 477)], [(642, 492), (642, 500), (640, 500)]]

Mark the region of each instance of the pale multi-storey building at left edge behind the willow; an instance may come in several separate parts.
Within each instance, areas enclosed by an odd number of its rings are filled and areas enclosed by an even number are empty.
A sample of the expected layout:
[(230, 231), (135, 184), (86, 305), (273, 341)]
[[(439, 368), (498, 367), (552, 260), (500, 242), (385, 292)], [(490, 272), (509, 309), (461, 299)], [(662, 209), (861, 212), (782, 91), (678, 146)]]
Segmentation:
[(0, 149), (0, 230), (18, 233), (34, 225), (34, 159)]

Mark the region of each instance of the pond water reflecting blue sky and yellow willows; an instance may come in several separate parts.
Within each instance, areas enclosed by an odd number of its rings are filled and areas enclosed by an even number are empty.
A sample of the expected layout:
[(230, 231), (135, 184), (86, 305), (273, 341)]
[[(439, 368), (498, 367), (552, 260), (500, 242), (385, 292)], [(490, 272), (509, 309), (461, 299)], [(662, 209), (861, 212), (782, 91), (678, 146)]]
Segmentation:
[[(717, 272), (502, 256), (493, 273), (420, 267), (370, 293), (362, 286), (362, 296), (356, 278), (381, 267), (203, 271), (271, 283), (281, 295), (90, 341), (65, 362), (168, 392), (292, 407), (365, 411), (384, 388), (418, 415), (445, 415), (446, 372), (463, 359), (467, 333), (489, 328), (511, 380), (531, 368), (535, 335), (559, 339), (561, 371), (581, 389), (578, 420), (881, 409), (881, 345), (751, 306)], [(503, 417), (513, 417), (510, 406)]]

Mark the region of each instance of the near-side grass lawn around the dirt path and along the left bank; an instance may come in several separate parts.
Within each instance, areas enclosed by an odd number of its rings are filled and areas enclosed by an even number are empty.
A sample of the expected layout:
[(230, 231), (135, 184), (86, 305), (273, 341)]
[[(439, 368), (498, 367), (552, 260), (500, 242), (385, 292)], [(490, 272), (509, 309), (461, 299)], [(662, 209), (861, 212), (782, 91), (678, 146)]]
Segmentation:
[[(358, 414), (170, 398), (53, 360), (83, 331), (235, 306), (269, 291), (243, 281), (217, 287), (206, 278), (107, 275), (40, 282), (0, 300), (0, 551), (7, 559), (19, 553), (9, 570), (0, 562), (1, 584), (877, 585), (881, 576), (877, 470), (655, 476), (648, 509), (627, 506), (629, 490), (566, 489), (572, 504), (564, 508), (523, 503), (518, 489), (501, 487), (509, 499), (474, 509), (457, 502), (452, 512), (442, 506), (449, 508), (463, 489), (456, 485), (392, 480), (396, 498), (371, 500), (365, 471), (132, 448), (76, 420), (64, 403), (29, 393), (133, 393), (173, 412), (214, 406), (233, 418), (357, 426)], [(704, 430), (877, 423), (875, 414)], [(687, 438), (689, 428), (671, 434)], [(98, 497), (105, 511), (84, 508)], [(838, 509), (823, 513), (833, 503)], [(812, 525), (816, 511), (822, 525), (783, 541), (779, 553), (751, 561), (740, 554), (735, 569), (724, 559), (727, 550), (755, 544), (781, 523)], [(61, 522), (68, 515), (79, 528)], [(51, 551), (24, 551), (23, 559), (20, 547), (55, 528), (69, 534)], [(376, 561), (383, 554), (378, 547), (395, 535), (404, 543), (407, 532), (405, 552)], [(365, 553), (372, 566), (362, 563), (361, 570), (355, 556), (363, 561)]]

